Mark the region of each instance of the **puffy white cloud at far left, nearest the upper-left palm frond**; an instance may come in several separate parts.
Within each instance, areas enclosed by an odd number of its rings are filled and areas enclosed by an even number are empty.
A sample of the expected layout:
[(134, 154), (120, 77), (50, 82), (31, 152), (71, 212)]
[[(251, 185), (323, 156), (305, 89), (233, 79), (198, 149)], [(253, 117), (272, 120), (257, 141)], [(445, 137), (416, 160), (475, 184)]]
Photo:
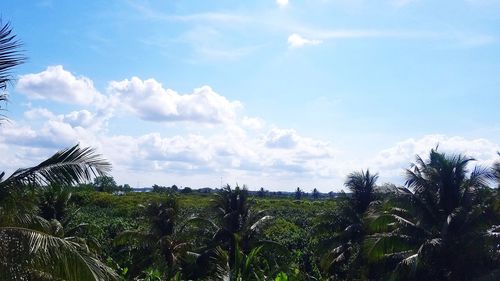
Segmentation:
[(16, 90), (30, 99), (47, 99), (62, 103), (88, 105), (102, 102), (102, 95), (87, 77), (75, 77), (62, 65), (49, 66), (46, 70), (22, 75)]

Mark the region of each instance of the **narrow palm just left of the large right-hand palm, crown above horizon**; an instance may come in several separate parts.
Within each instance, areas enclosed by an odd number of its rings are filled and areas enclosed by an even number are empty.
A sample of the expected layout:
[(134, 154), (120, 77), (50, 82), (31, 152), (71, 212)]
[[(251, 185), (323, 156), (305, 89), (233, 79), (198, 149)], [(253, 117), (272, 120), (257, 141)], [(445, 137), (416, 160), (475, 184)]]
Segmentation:
[(353, 280), (361, 274), (361, 245), (366, 233), (363, 217), (375, 199), (377, 179), (369, 170), (350, 173), (344, 185), (351, 197), (341, 198), (333, 213), (323, 214), (316, 226), (317, 234), (324, 237), (320, 248), (329, 249), (321, 267), (334, 278)]

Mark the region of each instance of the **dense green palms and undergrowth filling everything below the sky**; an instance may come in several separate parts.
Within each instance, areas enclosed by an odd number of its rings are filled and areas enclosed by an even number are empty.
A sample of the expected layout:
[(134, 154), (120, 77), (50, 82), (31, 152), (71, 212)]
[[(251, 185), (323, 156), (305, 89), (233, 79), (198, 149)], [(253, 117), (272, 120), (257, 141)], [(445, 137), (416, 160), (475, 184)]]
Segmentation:
[[(0, 102), (18, 47), (4, 25)], [(353, 172), (335, 198), (135, 193), (76, 145), (0, 173), (0, 279), (500, 280), (500, 162), (472, 161), (431, 150), (405, 187)]]

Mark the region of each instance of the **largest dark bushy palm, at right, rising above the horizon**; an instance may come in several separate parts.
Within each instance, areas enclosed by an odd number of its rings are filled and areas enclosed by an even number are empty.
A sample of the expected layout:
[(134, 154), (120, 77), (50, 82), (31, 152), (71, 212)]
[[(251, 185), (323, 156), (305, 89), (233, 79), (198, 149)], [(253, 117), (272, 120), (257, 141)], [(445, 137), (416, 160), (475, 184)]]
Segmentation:
[[(400, 280), (474, 280), (500, 266), (498, 216), (487, 186), (492, 174), (473, 158), (432, 149), (406, 170), (406, 185), (371, 217), (369, 260), (395, 268)], [(496, 253), (498, 255), (498, 252)], [(491, 280), (498, 280), (498, 274)]]

